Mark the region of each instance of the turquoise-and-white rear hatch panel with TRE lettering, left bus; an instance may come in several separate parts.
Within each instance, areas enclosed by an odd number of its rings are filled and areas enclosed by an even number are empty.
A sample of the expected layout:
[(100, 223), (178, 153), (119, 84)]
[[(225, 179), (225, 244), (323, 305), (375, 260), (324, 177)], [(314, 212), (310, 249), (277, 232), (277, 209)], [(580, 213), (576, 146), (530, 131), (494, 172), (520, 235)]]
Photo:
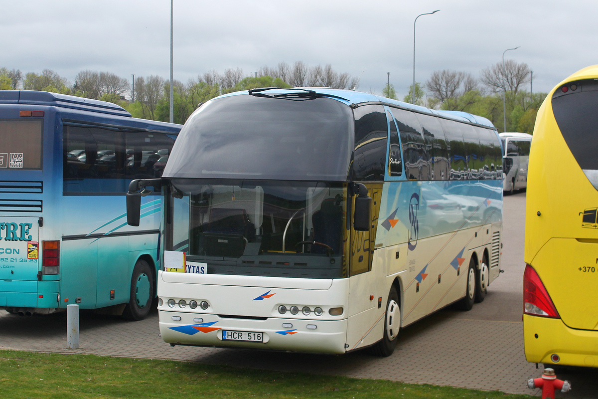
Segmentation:
[[(0, 306), (7, 306), (2, 291), (37, 293), (39, 255), (39, 218), (0, 218)], [(37, 295), (23, 297), (23, 307), (37, 307)]]

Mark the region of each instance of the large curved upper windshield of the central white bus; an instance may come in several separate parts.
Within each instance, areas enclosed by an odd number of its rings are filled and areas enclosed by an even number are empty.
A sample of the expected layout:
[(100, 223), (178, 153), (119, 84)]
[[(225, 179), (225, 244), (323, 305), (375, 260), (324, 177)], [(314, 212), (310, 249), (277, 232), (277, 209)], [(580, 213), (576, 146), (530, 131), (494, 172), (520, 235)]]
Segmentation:
[(330, 98), (210, 100), (181, 130), (163, 176), (346, 181), (353, 124)]

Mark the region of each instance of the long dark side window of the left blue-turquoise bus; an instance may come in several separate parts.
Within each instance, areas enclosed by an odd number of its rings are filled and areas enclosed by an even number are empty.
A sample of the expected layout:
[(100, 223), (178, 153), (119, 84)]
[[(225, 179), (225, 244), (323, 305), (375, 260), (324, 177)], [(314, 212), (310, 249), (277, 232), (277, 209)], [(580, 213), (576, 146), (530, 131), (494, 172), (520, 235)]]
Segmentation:
[(124, 193), (132, 179), (160, 177), (164, 163), (158, 160), (170, 153), (173, 144), (172, 136), (164, 133), (66, 124), (63, 191)]

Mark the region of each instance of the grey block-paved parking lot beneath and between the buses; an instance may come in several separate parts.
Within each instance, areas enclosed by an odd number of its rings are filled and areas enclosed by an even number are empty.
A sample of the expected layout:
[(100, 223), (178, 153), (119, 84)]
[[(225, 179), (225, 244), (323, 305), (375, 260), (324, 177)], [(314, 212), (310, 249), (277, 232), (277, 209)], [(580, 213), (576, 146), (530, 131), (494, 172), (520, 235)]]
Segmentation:
[[(444, 309), (401, 331), (388, 358), (364, 352), (341, 356), (289, 354), (237, 349), (170, 347), (158, 336), (157, 312), (144, 321), (81, 312), (80, 349), (66, 349), (66, 315), (19, 317), (0, 310), (0, 348), (37, 352), (162, 358), (228, 364), (281, 371), (338, 374), (431, 383), (461, 388), (540, 395), (527, 379), (541, 376), (542, 365), (527, 363), (523, 353), (523, 245), (525, 193), (505, 197), (502, 269), (486, 300), (469, 312)], [(242, 371), (240, 371), (242, 372)], [(563, 398), (598, 396), (598, 369), (560, 370), (572, 391)]]

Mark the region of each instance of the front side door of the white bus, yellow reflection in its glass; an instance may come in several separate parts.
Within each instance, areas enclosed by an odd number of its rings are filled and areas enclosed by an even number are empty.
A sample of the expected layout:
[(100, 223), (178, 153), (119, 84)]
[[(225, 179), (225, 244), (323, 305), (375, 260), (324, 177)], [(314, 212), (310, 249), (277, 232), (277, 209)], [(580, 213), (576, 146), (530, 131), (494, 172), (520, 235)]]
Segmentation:
[[(349, 232), (349, 323), (347, 331), (347, 350), (370, 345), (380, 339), (379, 334), (364, 337), (378, 319), (378, 299), (382, 297), (382, 312), (386, 309), (386, 296), (383, 293), (383, 276), (373, 270), (374, 242), (378, 226), (378, 212), (382, 183), (366, 184), (368, 195), (373, 199), (371, 225), (367, 232), (356, 232), (351, 226)], [(355, 203), (355, 196), (353, 196)], [(355, 209), (352, 206), (352, 209)], [(382, 320), (383, 322), (383, 320)], [(365, 328), (367, 326), (367, 328)], [(382, 331), (382, 330), (380, 330)]]

